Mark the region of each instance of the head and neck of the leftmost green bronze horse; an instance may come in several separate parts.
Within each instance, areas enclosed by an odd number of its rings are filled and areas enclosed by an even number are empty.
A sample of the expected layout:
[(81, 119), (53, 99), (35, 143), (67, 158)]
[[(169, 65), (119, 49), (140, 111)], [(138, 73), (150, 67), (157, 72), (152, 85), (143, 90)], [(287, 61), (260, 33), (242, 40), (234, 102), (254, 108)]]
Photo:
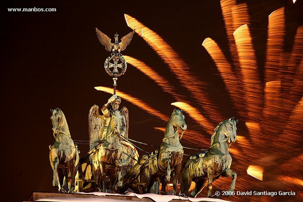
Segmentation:
[(60, 131), (70, 136), (67, 122), (62, 110), (57, 107), (56, 109), (51, 109), (51, 113), (52, 113), (51, 120), (53, 125), (52, 130), (54, 137), (56, 137), (56, 135)]

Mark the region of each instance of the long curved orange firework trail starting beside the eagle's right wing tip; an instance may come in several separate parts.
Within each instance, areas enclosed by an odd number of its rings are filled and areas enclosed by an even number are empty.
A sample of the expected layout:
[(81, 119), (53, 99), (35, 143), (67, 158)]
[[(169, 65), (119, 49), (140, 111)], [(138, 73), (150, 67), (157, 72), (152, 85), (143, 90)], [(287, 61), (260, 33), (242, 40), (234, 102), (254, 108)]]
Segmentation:
[[(211, 102), (208, 93), (204, 92), (206, 84), (199, 81), (199, 79), (192, 75), (188, 65), (180, 58), (177, 52), (168, 45), (156, 32), (152, 31), (148, 27), (144, 26), (141, 22), (125, 14), (125, 20), (127, 25), (131, 29), (135, 29), (135, 32), (141, 36), (152, 49), (163, 59), (163, 61), (169, 66), (171, 72), (173, 72), (180, 80), (182, 86), (187, 88), (194, 98), (198, 101), (198, 104), (203, 108), (205, 114), (211, 118), (213, 122), (222, 120), (223, 116), (216, 110), (216, 106)], [(202, 89), (197, 83), (204, 86)]]

